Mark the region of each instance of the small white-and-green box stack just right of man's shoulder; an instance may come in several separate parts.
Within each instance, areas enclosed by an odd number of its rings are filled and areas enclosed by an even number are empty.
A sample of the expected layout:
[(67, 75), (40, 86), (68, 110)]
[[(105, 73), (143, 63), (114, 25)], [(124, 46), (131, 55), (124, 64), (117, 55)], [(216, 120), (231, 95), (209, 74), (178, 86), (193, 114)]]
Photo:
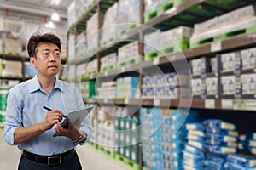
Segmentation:
[(96, 97), (96, 81), (90, 80), (86, 82), (80, 82), (79, 91), (83, 99), (91, 99)]

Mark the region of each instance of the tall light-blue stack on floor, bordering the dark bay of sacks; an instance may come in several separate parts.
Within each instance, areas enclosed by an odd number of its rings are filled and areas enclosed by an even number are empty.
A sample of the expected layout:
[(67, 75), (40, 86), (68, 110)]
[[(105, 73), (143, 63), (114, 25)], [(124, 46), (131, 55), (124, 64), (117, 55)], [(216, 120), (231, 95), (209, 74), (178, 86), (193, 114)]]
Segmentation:
[[(195, 122), (195, 111), (175, 110), (162, 125), (162, 156), (164, 169), (183, 169), (183, 149), (186, 141), (186, 124)], [(169, 135), (169, 139), (167, 138)]]

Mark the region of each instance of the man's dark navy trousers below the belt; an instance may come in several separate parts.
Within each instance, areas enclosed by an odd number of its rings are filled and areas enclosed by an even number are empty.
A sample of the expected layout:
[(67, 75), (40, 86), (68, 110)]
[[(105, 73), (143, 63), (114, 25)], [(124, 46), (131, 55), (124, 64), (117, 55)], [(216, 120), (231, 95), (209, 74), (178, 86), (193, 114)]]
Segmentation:
[(37, 163), (28, 160), (26, 157), (21, 156), (19, 163), (19, 170), (82, 170), (79, 156), (74, 153), (73, 156), (62, 162), (60, 165), (49, 166), (44, 163)]

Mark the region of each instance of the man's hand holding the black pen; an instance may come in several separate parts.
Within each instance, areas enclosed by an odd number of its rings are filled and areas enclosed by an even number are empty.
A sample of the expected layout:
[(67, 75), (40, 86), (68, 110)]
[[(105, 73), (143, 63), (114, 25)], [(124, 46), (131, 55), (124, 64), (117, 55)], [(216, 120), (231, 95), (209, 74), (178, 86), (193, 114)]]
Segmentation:
[(46, 130), (51, 129), (57, 122), (60, 122), (64, 114), (58, 110), (48, 111), (44, 119), (44, 127)]

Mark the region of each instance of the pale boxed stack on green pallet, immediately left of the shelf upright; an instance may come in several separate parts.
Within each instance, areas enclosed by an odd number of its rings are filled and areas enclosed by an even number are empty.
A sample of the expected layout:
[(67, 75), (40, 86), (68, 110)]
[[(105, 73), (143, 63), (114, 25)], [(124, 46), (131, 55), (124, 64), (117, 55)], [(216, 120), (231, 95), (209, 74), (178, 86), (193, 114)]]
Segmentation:
[(136, 64), (142, 59), (139, 56), (139, 42), (131, 42), (119, 48), (118, 66)]

